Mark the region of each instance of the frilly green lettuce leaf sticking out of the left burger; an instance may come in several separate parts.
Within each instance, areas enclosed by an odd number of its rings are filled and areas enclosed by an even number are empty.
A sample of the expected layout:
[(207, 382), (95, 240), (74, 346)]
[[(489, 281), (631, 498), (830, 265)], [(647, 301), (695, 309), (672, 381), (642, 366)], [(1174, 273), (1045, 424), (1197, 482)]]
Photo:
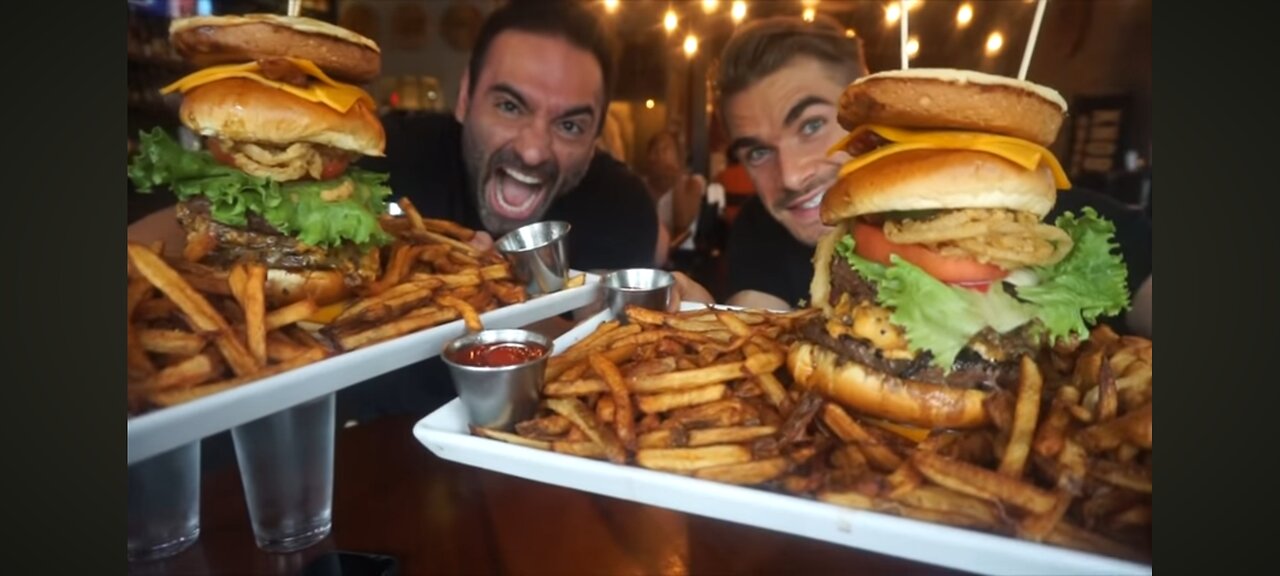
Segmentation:
[[(279, 183), (223, 165), (205, 151), (189, 151), (160, 128), (140, 134), (138, 152), (129, 163), (129, 179), (138, 192), (169, 187), (178, 200), (205, 196), (215, 221), (243, 227), (253, 212), (300, 242), (334, 247), (352, 243), (361, 250), (383, 246), (390, 236), (378, 223), (387, 212), (387, 175), (348, 168), (342, 177), (315, 182)], [(347, 198), (326, 201), (328, 189), (351, 183)]]

